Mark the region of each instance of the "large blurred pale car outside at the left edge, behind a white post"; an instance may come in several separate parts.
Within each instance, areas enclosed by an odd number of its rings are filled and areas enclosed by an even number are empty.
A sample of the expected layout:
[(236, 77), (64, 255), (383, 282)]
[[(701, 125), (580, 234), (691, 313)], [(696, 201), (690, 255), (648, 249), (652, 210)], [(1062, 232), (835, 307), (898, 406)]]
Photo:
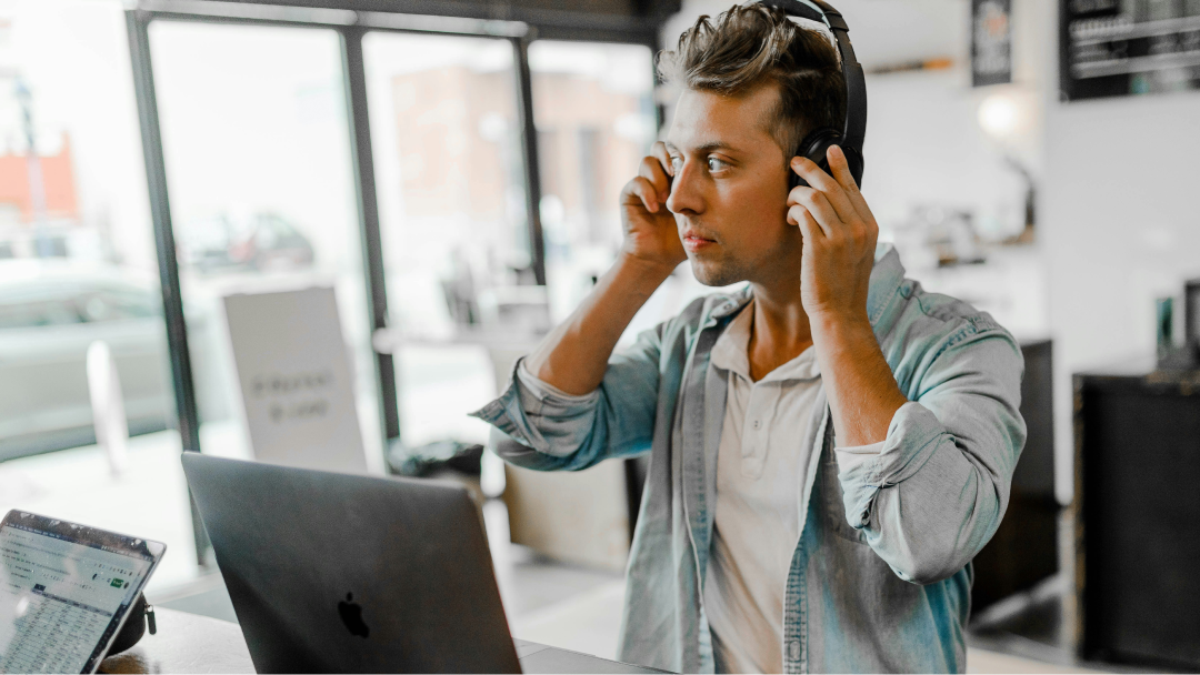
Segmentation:
[(155, 279), (67, 259), (0, 260), (0, 460), (95, 442), (88, 346), (116, 360), (130, 433), (173, 417)]

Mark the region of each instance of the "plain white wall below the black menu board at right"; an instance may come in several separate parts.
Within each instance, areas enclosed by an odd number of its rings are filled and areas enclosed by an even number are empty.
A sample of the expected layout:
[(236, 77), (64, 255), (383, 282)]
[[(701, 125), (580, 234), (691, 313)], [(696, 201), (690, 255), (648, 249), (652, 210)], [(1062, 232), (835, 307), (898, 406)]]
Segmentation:
[[(1026, 40), (1056, 44), (1054, 2), (1030, 4)], [(1200, 277), (1200, 92), (1062, 103), (1055, 53), (1045, 100), (1042, 235), (1055, 344), (1060, 499), (1070, 496), (1070, 374), (1150, 358), (1154, 297)], [(1066, 475), (1064, 475), (1066, 474)], [(1067, 481), (1066, 484), (1063, 481)]]

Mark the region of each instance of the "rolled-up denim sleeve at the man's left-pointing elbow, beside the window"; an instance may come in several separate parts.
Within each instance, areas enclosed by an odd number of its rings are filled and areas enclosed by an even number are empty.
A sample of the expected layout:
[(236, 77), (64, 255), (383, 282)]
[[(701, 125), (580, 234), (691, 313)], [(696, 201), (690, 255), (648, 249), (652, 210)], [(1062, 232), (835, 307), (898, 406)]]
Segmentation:
[(494, 445), (504, 459), (529, 469), (582, 470), (648, 451), (664, 330), (648, 330), (613, 352), (600, 386), (583, 396), (539, 380), (518, 360), (509, 388), (472, 416), (517, 441)]

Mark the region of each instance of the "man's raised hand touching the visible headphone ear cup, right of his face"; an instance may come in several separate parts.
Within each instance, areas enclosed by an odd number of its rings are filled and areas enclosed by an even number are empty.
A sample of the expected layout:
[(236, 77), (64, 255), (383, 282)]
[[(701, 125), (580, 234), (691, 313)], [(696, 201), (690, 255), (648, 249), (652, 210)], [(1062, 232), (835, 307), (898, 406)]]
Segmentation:
[(787, 195), (787, 222), (804, 235), (800, 300), (810, 319), (866, 319), (866, 293), (880, 228), (836, 145), (826, 155), (833, 176), (804, 157), (791, 168), (809, 186)]

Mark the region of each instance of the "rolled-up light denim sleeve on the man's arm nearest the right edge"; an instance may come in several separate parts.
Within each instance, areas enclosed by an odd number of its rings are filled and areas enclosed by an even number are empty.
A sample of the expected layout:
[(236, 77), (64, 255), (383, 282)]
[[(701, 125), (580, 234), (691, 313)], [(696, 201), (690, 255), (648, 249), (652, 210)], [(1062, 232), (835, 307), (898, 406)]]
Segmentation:
[(878, 456), (839, 471), (846, 518), (901, 579), (944, 579), (995, 534), (1025, 445), (1022, 370), (1002, 330), (950, 338)]

